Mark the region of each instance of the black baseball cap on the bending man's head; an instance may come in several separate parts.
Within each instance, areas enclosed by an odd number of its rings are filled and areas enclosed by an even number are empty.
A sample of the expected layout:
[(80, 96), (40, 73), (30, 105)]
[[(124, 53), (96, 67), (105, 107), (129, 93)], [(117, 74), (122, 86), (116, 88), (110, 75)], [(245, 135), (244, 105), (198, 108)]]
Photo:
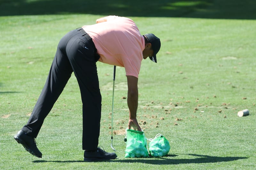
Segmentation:
[(154, 55), (149, 58), (150, 58), (150, 60), (152, 60), (153, 62), (156, 63), (156, 54), (158, 53), (158, 51), (160, 50), (160, 47), (161, 47), (160, 39), (157, 38), (152, 33), (147, 33), (144, 36), (146, 37), (146, 39), (148, 39), (149, 43), (151, 43), (153, 51), (154, 51)]

